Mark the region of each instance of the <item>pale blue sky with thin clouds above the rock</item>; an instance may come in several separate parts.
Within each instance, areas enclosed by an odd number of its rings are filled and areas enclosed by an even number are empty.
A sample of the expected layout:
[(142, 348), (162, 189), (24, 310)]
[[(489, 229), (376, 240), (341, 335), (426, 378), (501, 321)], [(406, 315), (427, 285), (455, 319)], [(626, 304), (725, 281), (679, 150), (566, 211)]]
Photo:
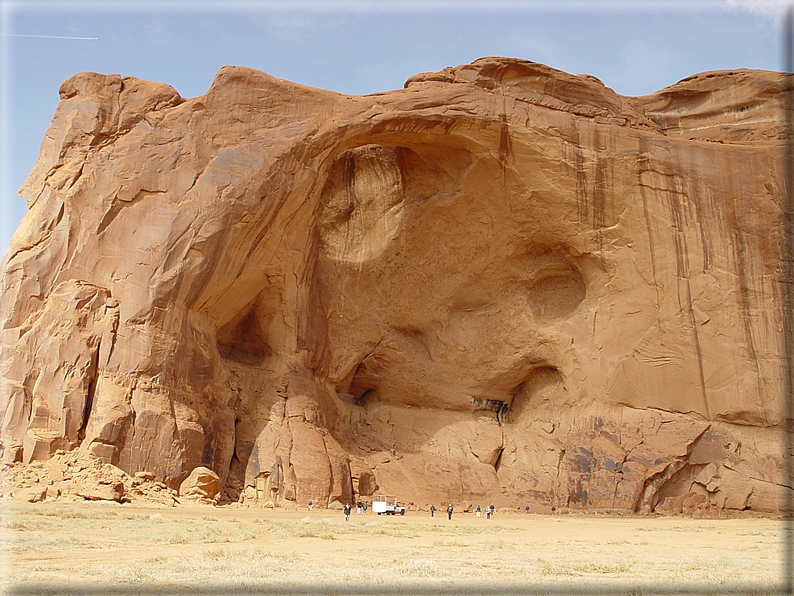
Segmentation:
[[(119, 73), (203, 94), (225, 64), (348, 94), (511, 56), (645, 95), (707, 70), (782, 70), (776, 0), (0, 0), (0, 252), (58, 87)], [(76, 39), (88, 38), (88, 39)]]

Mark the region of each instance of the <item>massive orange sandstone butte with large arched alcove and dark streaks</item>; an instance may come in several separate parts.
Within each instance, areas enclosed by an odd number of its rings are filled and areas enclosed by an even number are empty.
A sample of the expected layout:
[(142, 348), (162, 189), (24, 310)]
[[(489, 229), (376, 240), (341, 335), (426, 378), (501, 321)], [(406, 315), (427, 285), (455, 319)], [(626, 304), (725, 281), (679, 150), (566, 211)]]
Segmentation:
[(241, 503), (780, 511), (782, 77), (75, 75), (2, 262), (3, 456)]

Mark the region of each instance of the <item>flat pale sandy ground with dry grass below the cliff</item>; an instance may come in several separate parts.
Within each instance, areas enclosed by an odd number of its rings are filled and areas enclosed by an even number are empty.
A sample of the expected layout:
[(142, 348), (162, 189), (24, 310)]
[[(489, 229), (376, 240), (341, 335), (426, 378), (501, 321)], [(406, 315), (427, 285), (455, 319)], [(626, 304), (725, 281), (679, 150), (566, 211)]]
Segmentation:
[(779, 594), (783, 522), (3, 505), (6, 594)]

